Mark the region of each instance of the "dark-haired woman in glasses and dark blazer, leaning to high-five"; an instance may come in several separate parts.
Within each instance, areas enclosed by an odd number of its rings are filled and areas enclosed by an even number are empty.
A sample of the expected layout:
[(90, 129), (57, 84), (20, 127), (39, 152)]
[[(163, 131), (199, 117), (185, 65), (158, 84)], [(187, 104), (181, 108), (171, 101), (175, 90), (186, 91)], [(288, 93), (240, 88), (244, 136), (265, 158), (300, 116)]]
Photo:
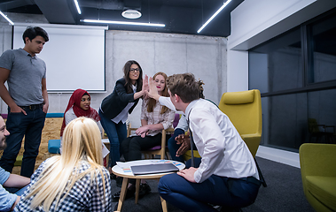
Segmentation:
[[(120, 160), (120, 144), (127, 137), (126, 121), (137, 106), (139, 98), (148, 89), (148, 79), (143, 83), (143, 71), (135, 60), (129, 60), (123, 67), (124, 76), (115, 83), (113, 93), (105, 97), (98, 111), (108, 140), (110, 140), (110, 173), (111, 167)], [(147, 78), (147, 76), (145, 76)]]

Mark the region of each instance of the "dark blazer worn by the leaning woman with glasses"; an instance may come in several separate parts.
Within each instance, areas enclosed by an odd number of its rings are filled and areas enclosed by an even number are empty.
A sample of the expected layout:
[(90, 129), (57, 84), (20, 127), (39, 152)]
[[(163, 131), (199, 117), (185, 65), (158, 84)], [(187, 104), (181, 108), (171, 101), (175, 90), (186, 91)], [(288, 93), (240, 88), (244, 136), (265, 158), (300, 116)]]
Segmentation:
[(129, 109), (129, 114), (137, 106), (139, 99), (134, 100), (134, 94), (127, 94), (125, 87), (126, 80), (124, 78), (118, 79), (115, 82), (115, 87), (111, 95), (107, 95), (101, 103), (100, 109), (105, 117), (113, 119), (118, 116), (121, 111), (129, 104), (129, 102), (135, 102)]

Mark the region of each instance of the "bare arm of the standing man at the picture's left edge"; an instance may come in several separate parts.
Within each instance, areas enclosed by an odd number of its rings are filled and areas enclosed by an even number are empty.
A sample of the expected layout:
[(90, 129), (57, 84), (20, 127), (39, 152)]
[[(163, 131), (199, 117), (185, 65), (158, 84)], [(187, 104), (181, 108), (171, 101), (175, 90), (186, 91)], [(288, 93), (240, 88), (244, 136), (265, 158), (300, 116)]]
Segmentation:
[(11, 112), (13, 113), (24, 113), (27, 115), (26, 111), (21, 109), (12, 99), (10, 93), (7, 88), (4, 86), (4, 82), (10, 76), (10, 70), (5, 68), (0, 68), (0, 97), (4, 100), (4, 102), (11, 108)]

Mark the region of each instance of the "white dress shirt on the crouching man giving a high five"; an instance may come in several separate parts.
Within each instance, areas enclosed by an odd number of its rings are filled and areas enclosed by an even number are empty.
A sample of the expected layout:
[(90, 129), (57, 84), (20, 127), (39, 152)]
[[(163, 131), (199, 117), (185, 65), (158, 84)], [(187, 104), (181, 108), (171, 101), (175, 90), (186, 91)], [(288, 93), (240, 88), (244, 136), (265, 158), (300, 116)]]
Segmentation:
[(228, 178), (254, 177), (258, 170), (244, 140), (231, 120), (214, 103), (199, 99), (185, 110), (193, 140), (202, 157), (194, 173), (197, 183), (215, 174)]

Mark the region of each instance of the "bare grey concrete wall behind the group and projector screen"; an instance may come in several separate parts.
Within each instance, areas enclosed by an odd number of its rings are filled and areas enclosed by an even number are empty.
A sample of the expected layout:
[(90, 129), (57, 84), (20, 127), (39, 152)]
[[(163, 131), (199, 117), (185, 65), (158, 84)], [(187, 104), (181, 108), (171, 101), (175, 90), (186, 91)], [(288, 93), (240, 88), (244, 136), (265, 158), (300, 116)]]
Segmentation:
[[(41, 15), (9, 13), (8, 17), (14, 23), (46, 23)], [(0, 50), (3, 52), (12, 47), (12, 28), (8, 27), (5, 20), (1, 21), (0, 41), (4, 42), (0, 44)], [(223, 92), (226, 92), (226, 43), (227, 40), (223, 37), (106, 31), (106, 92), (90, 94), (91, 107), (98, 110), (105, 96), (113, 92), (115, 81), (123, 76), (123, 65), (130, 59), (137, 60), (148, 76), (152, 76), (155, 72), (166, 72), (168, 75), (192, 72), (197, 79), (204, 81), (206, 98), (218, 103)], [(44, 48), (48, 48), (48, 43)], [(90, 76), (87, 78), (90, 83)], [(49, 112), (64, 112), (70, 95), (66, 93), (49, 94)], [(140, 125), (140, 109), (141, 102), (129, 117), (132, 126)], [(1, 102), (1, 113), (7, 113), (7, 106), (4, 102)]]

